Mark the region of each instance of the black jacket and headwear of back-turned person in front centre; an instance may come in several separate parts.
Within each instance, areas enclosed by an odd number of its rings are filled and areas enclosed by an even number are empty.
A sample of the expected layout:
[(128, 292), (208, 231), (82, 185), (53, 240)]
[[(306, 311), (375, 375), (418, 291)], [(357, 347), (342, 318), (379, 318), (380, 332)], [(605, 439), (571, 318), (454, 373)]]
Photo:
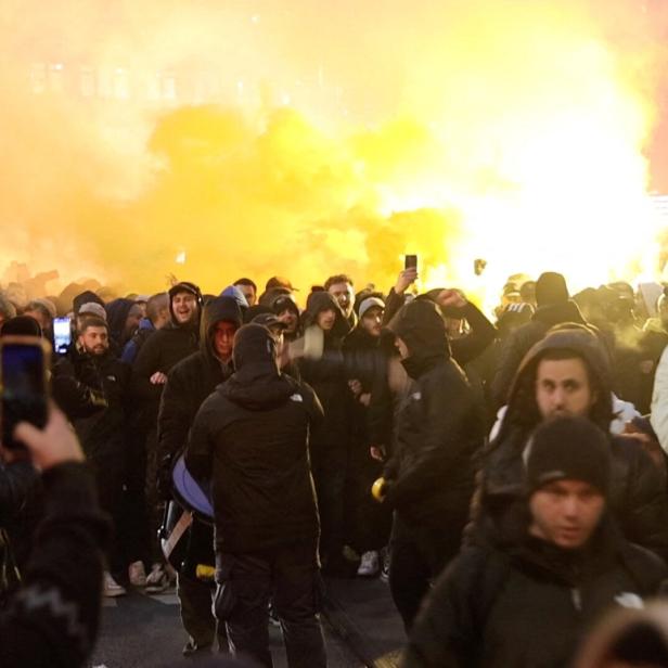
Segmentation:
[(243, 553), (317, 540), (308, 434), (322, 420), (312, 389), (281, 375), (258, 324), (235, 337), (232, 377), (202, 404), (185, 452), (190, 472), (213, 471), (216, 545)]

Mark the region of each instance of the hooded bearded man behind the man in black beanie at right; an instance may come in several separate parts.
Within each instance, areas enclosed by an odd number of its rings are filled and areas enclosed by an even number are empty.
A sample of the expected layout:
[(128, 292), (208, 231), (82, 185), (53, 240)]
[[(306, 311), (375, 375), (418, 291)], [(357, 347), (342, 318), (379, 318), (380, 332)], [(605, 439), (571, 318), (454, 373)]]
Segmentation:
[(524, 358), (508, 409), (487, 449), (467, 537), (486, 542), (522, 493), (531, 432), (555, 415), (588, 418), (607, 434), (613, 458), (609, 510), (625, 537), (665, 558), (668, 510), (658, 468), (633, 439), (608, 434), (609, 369), (599, 338), (584, 327), (550, 332)]

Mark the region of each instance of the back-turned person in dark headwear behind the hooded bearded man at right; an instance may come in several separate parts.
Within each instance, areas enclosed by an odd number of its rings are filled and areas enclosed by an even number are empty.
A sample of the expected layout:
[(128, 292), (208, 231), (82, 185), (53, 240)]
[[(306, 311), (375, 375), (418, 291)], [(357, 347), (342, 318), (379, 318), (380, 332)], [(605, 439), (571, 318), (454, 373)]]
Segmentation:
[(514, 330), (499, 351), (497, 371), (491, 383), (494, 408), (506, 403), (508, 393), (515, 372), (531, 346), (538, 343), (556, 324), (576, 322), (587, 324), (577, 304), (570, 299), (566, 280), (561, 273), (545, 271), (536, 282), (538, 308), (531, 321)]

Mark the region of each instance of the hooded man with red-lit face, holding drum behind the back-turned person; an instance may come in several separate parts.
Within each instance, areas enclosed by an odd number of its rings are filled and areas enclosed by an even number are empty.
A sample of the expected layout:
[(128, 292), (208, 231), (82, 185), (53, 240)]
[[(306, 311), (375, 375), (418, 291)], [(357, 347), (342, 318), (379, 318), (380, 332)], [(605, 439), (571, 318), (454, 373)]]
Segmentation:
[[(172, 462), (188, 442), (200, 406), (232, 374), (234, 334), (242, 321), (241, 308), (233, 297), (217, 297), (209, 301), (202, 314), (200, 350), (169, 372), (158, 414), (158, 485), (164, 499), (171, 496)], [(209, 652), (216, 639), (211, 584), (196, 576), (198, 564), (214, 564), (213, 545), (211, 527), (194, 518), (188, 553), (178, 575), (181, 620), (190, 635), (183, 648), (185, 655)], [(154, 571), (160, 569), (159, 564), (154, 566)], [(166, 574), (162, 581), (167, 582)], [(218, 625), (218, 644), (221, 650), (227, 646), (224, 625)]]

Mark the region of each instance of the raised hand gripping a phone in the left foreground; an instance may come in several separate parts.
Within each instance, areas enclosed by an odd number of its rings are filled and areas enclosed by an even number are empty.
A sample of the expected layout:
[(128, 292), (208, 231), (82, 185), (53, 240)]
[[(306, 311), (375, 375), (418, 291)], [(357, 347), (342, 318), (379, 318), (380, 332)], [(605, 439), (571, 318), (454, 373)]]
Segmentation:
[(28, 422), (20, 422), (14, 429), (14, 438), (26, 446), (33, 463), (42, 471), (64, 462), (84, 461), (84, 451), (77, 435), (65, 415), (53, 406), (43, 429), (38, 429)]

